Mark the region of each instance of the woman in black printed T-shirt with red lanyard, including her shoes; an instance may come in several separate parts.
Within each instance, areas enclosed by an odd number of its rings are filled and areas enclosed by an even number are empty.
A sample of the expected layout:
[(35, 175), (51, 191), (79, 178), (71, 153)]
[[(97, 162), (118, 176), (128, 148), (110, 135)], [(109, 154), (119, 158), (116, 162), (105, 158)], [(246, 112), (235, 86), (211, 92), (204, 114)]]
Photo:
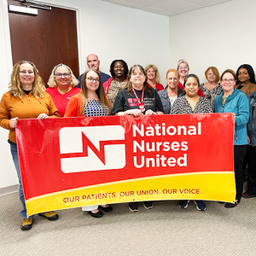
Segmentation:
[[(130, 83), (119, 90), (113, 103), (112, 113), (116, 115), (151, 116), (163, 114), (163, 105), (157, 91), (148, 86), (146, 73), (142, 66), (131, 67), (128, 78)], [(152, 201), (143, 201), (146, 209), (153, 207)], [(130, 202), (131, 212), (138, 211), (138, 203)]]

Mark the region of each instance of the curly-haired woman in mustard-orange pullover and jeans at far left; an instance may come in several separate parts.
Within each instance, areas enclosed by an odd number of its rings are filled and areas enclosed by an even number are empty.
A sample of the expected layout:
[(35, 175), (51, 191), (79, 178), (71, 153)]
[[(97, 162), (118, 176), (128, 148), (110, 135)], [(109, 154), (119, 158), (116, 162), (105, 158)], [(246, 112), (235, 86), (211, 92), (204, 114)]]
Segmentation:
[[(44, 92), (44, 83), (38, 69), (30, 61), (18, 61), (13, 67), (9, 92), (3, 94), (0, 102), (0, 125), (9, 130), (9, 144), (16, 172), (19, 178), (19, 195), (23, 210), (20, 212), (21, 230), (32, 228), (33, 216), (27, 216), (26, 204), (20, 177), (20, 165), (15, 137), (15, 127), (19, 119), (48, 119), (59, 117), (58, 110), (48, 93)], [(48, 220), (59, 218), (55, 212), (39, 213)]]

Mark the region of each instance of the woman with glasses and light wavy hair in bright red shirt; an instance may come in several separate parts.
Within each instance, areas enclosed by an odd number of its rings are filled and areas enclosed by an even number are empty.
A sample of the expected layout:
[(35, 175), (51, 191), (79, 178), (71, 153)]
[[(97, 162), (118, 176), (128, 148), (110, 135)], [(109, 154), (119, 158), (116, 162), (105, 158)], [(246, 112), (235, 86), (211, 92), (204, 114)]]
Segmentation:
[(53, 68), (47, 84), (49, 88), (45, 91), (52, 97), (60, 116), (63, 117), (70, 98), (80, 91), (76, 87), (79, 80), (75, 78), (70, 67), (61, 63)]

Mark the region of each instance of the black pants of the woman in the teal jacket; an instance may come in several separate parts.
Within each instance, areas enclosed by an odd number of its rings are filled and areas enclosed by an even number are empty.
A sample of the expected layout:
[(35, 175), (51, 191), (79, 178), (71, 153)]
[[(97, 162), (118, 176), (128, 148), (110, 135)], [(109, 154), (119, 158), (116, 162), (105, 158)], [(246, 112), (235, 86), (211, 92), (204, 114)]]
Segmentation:
[(241, 199), (241, 194), (242, 194), (242, 189), (243, 189), (242, 165), (243, 165), (243, 160), (244, 160), (246, 153), (247, 153), (247, 145), (234, 146), (236, 200)]

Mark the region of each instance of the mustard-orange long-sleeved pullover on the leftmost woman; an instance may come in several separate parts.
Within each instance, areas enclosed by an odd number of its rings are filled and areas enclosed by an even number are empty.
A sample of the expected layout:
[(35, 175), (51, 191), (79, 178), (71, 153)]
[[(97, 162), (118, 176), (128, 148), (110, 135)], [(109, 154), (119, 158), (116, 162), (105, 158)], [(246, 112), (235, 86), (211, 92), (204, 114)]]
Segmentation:
[(0, 102), (0, 126), (9, 130), (9, 140), (16, 143), (15, 128), (10, 127), (9, 120), (16, 117), (36, 119), (40, 113), (46, 113), (49, 118), (59, 117), (58, 109), (47, 92), (40, 99), (37, 99), (32, 91), (22, 98), (6, 92)]

